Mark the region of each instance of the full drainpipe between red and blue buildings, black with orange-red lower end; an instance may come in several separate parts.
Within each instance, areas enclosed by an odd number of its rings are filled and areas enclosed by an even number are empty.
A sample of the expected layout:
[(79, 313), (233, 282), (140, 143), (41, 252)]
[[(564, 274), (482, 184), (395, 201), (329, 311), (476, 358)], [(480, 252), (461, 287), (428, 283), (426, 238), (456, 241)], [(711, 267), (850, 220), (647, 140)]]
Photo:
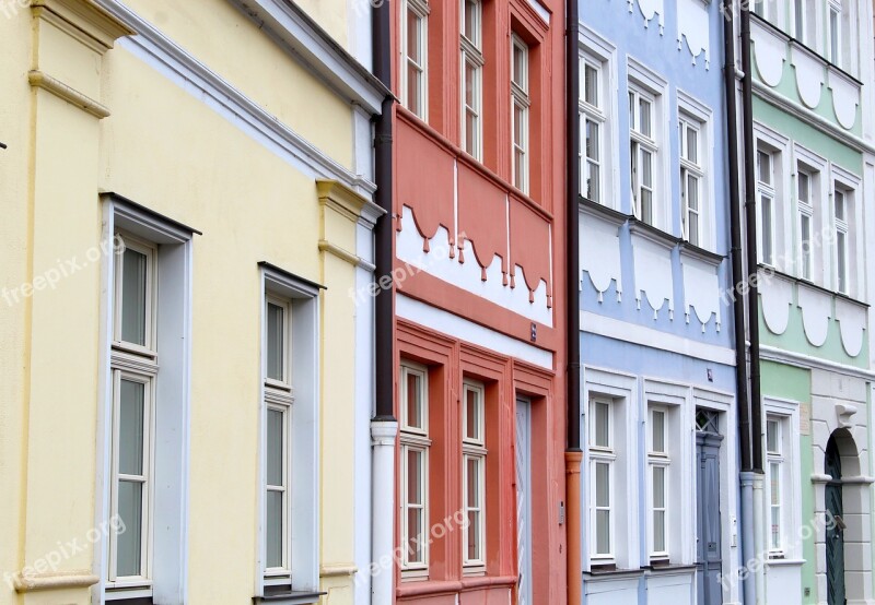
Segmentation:
[(579, 16), (578, 0), (565, 0), (565, 163), (568, 174), (565, 187), (565, 262), (568, 288), (568, 317), (565, 318), (568, 346), (568, 373), (565, 376), (568, 400), (568, 443), (565, 449), (565, 500), (567, 507), (567, 584), (568, 605), (580, 605), (582, 592), (581, 567), (581, 311), (580, 311), (580, 164), (578, 152), (581, 144), (578, 103), (580, 97), (580, 62), (578, 54)]

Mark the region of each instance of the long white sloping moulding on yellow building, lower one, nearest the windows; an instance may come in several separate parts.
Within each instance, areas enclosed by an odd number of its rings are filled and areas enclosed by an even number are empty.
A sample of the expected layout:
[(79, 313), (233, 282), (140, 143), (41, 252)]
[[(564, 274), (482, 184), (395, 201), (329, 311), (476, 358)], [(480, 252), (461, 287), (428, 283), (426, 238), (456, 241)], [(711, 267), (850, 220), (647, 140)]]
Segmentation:
[(117, 0), (97, 0), (113, 16), (138, 35), (121, 38), (117, 46), (140, 58), (195, 98), (210, 106), (250, 138), (285, 157), (312, 178), (336, 179), (355, 191), (372, 195), (376, 185), (353, 174), (287, 124), (246, 97), (194, 56), (183, 50), (151, 23)]

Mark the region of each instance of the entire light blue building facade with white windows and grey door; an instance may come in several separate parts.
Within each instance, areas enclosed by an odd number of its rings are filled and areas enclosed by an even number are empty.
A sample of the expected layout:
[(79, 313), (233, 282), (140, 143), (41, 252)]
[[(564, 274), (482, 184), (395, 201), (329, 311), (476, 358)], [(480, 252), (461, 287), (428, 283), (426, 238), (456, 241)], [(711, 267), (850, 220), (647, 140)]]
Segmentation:
[(738, 603), (721, 7), (580, 12), (583, 603)]

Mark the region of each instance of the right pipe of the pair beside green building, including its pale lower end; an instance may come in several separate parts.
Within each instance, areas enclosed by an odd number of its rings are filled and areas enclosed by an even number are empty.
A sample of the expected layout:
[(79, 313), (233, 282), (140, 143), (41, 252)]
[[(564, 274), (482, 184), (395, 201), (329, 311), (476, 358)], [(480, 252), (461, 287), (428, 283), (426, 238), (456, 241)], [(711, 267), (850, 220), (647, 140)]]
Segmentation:
[[(765, 553), (763, 500), (762, 500), (762, 402), (759, 371), (759, 288), (757, 286), (757, 197), (754, 158), (754, 91), (750, 73), (750, 10), (742, 5), (742, 98), (744, 104), (744, 152), (745, 152), (745, 214), (747, 229), (747, 317), (750, 336), (750, 450), (749, 475), (744, 483), (750, 484), (754, 514), (755, 557)], [(747, 558), (746, 560), (750, 560)], [(763, 566), (754, 566), (756, 601), (766, 602), (766, 572)], [(749, 583), (749, 580), (748, 580)], [(750, 603), (748, 601), (748, 603)]]

